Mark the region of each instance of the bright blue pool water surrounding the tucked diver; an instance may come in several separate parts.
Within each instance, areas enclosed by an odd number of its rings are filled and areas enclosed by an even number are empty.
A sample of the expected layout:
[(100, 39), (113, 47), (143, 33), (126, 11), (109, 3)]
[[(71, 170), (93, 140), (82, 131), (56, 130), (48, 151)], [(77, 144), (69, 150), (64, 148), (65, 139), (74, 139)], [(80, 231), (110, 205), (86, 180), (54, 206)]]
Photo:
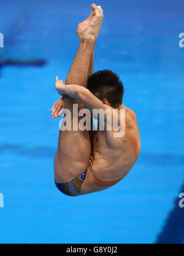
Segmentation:
[[(128, 176), (109, 190), (77, 198), (56, 190), (59, 120), (50, 118), (58, 99), (55, 76), (66, 78), (79, 45), (76, 26), (91, 3), (1, 2), (0, 242), (182, 243), (183, 1), (96, 2), (104, 22), (94, 69), (120, 74), (142, 150)], [(45, 65), (26, 65), (28, 60)]]

